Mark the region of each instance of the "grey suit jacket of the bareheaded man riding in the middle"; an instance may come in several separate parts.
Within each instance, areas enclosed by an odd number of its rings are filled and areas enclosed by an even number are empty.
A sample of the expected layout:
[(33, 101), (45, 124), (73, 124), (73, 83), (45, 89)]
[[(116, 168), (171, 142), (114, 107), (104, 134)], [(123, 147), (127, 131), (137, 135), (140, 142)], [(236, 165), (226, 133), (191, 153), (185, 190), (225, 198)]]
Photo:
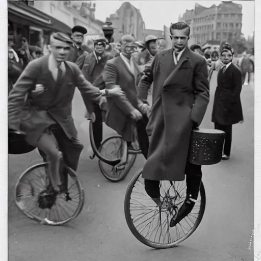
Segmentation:
[(134, 141), (134, 122), (130, 115), (134, 109), (138, 109), (136, 87), (141, 71), (135, 62), (134, 65), (135, 73), (132, 74), (122, 58), (118, 56), (107, 62), (102, 73), (107, 89), (119, 85), (126, 94), (122, 97), (107, 98), (109, 109), (106, 114), (106, 124), (122, 135), (125, 141)]

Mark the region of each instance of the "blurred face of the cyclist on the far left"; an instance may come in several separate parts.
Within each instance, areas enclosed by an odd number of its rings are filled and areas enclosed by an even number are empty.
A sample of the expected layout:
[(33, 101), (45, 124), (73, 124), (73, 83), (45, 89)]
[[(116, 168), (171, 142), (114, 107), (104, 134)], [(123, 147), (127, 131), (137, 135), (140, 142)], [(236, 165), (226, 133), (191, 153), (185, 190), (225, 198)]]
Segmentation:
[(71, 45), (56, 39), (50, 43), (50, 51), (57, 62), (66, 61), (70, 53)]

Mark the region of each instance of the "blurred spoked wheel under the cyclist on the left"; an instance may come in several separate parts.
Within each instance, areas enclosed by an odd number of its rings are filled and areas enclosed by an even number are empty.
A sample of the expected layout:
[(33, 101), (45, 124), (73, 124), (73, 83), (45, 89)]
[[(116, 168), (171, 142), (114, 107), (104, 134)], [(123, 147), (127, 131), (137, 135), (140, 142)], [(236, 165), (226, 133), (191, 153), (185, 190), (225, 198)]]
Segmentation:
[(15, 203), (27, 217), (45, 225), (63, 225), (76, 218), (84, 205), (84, 190), (76, 173), (66, 167), (65, 193), (51, 190), (48, 163), (25, 170), (15, 186)]

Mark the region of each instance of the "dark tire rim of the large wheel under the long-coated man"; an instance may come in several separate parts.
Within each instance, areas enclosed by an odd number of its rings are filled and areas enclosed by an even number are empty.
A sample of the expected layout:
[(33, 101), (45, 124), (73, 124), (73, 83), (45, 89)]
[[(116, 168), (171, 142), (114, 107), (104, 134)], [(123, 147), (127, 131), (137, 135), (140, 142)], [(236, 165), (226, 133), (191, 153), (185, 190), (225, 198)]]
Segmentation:
[(179, 240), (177, 240), (177, 241), (175, 241), (171, 244), (159, 244), (159, 243), (148, 241), (146, 238), (144, 238), (138, 232), (137, 228), (135, 227), (135, 225), (133, 224), (133, 221), (132, 221), (132, 217), (131, 217), (131, 213), (130, 213), (130, 205), (131, 205), (130, 198), (131, 198), (131, 194), (132, 194), (132, 190), (134, 188), (134, 185), (136, 184), (136, 181), (138, 180), (138, 178), (140, 177), (141, 174), (142, 174), (142, 170), (139, 170), (133, 176), (133, 178), (129, 182), (129, 185), (127, 187), (126, 194), (125, 194), (124, 214), (125, 214), (125, 219), (126, 219), (126, 223), (128, 225), (128, 228), (131, 230), (131, 232), (133, 233), (133, 235), (135, 236), (136, 239), (138, 239), (142, 244), (144, 244), (148, 247), (155, 248), (155, 249), (166, 249), (166, 248), (175, 247), (178, 244), (180, 244), (181, 242), (183, 242), (184, 240), (186, 240), (187, 238), (189, 238), (192, 235), (192, 233), (194, 233), (194, 231), (197, 229), (197, 227), (199, 226), (199, 224), (200, 224), (200, 222), (203, 218), (204, 211), (205, 211), (205, 203), (206, 203), (204, 185), (201, 181), (201, 186), (200, 186), (200, 190), (199, 190), (199, 194), (201, 196), (199, 216), (198, 216), (193, 228), (183, 238), (181, 238), (181, 239), (179, 239)]

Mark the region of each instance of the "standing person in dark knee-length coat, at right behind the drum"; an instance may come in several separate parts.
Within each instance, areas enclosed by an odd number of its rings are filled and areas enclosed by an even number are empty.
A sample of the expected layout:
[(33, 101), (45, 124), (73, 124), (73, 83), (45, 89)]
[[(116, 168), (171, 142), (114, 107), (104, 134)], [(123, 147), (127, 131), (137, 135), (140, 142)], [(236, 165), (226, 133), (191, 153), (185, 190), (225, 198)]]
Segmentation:
[(232, 142), (232, 125), (243, 120), (240, 100), (242, 74), (232, 63), (233, 51), (229, 44), (221, 50), (221, 61), (224, 66), (218, 73), (218, 86), (215, 92), (212, 122), (215, 128), (226, 133), (222, 160), (230, 158)]

